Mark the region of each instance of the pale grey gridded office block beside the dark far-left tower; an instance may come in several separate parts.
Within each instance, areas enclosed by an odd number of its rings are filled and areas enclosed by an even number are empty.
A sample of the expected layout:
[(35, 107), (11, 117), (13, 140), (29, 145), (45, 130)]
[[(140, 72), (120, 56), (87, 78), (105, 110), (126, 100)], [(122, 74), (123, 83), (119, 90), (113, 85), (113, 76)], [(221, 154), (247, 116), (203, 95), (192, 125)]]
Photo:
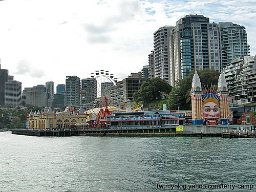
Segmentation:
[(5, 82), (5, 105), (21, 106), (22, 105), (22, 83), (19, 81)]

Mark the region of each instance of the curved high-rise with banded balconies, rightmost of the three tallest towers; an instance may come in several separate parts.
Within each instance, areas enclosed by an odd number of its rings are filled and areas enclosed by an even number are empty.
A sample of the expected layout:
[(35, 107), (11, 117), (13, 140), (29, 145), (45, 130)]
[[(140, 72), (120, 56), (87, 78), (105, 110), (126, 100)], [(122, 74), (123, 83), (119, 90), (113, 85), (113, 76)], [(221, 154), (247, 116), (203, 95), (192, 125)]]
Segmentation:
[(222, 69), (228, 63), (239, 57), (249, 55), (249, 46), (247, 44), (247, 34), (244, 26), (233, 24), (231, 22), (220, 22), (220, 49)]

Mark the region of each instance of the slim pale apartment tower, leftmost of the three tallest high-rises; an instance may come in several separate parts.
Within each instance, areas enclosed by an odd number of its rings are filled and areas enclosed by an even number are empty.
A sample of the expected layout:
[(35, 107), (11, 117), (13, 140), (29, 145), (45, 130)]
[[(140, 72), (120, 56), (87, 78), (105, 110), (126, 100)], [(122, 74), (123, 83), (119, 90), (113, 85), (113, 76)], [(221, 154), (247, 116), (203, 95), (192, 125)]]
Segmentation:
[(170, 83), (169, 37), (172, 26), (164, 26), (154, 33), (154, 67), (155, 77)]

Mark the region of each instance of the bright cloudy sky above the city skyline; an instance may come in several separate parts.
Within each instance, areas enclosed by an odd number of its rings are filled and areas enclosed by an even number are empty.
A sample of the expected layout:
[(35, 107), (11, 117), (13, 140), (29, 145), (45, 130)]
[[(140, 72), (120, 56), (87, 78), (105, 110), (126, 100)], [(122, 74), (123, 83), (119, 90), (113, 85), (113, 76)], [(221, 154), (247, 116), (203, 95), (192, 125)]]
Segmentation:
[(148, 65), (153, 33), (200, 14), (246, 28), (256, 54), (256, 0), (2, 0), (0, 58), (22, 89), (96, 70), (122, 80)]

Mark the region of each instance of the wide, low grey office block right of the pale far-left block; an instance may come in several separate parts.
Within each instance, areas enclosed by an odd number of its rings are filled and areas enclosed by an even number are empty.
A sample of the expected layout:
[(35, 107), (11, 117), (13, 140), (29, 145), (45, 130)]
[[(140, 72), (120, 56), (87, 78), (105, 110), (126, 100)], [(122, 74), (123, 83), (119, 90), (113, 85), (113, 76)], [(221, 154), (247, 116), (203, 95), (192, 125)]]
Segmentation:
[(32, 91), (26, 91), (26, 101), (25, 103), (27, 105), (33, 105), (33, 106), (47, 106), (47, 98), (48, 95), (45, 91), (41, 90), (32, 90)]

